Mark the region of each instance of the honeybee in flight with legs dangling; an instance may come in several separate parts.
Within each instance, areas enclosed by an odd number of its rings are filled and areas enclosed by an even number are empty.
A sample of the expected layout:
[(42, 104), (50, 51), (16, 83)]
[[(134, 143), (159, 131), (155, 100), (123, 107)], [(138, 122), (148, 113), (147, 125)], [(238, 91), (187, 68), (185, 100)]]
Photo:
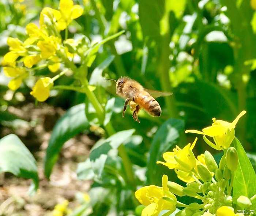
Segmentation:
[(160, 116), (162, 109), (155, 98), (161, 96), (169, 96), (172, 93), (154, 91), (144, 89), (139, 82), (124, 76), (120, 77), (117, 81), (114, 79), (108, 79), (116, 82), (116, 94), (125, 99), (123, 108), (123, 117), (127, 105), (129, 104), (132, 110), (132, 117), (136, 122), (140, 123), (138, 119), (138, 113), (140, 109), (144, 109), (148, 114), (153, 116)]

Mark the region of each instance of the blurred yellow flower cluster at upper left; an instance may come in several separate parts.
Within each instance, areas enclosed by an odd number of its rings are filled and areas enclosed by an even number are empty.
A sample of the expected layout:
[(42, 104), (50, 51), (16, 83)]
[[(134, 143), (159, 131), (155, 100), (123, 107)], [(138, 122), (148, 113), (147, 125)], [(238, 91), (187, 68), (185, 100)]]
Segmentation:
[[(69, 64), (71, 59), (74, 59), (75, 53), (71, 53), (69, 47), (74, 47), (75, 40), (67, 38), (67, 27), (82, 13), (83, 8), (74, 5), (72, 0), (60, 0), (60, 10), (49, 7), (42, 9), (39, 27), (34, 23), (26, 26), (28, 38), (24, 42), (17, 38), (7, 39), (10, 51), (4, 55), (1, 64), (4, 66), (4, 74), (12, 78), (8, 83), (11, 90), (18, 89), (22, 81), (36, 69), (48, 67), (51, 72), (57, 72), (61, 63), (66, 66), (65, 64)], [(65, 40), (61, 38), (62, 30), (65, 30)], [(53, 81), (57, 78), (59, 76), (39, 78), (31, 95), (38, 101), (45, 101), (49, 97)]]

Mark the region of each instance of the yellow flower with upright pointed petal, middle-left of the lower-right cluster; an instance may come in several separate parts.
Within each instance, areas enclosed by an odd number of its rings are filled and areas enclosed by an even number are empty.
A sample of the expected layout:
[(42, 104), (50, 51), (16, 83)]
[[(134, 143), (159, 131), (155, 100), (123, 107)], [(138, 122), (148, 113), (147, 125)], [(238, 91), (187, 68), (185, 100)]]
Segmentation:
[(189, 143), (183, 149), (176, 146), (176, 149), (173, 149), (173, 152), (163, 153), (163, 159), (166, 162), (157, 161), (157, 164), (163, 164), (169, 169), (178, 169), (184, 172), (190, 172), (196, 166), (196, 158), (192, 152), (196, 141), (197, 138), (195, 138), (192, 145)]

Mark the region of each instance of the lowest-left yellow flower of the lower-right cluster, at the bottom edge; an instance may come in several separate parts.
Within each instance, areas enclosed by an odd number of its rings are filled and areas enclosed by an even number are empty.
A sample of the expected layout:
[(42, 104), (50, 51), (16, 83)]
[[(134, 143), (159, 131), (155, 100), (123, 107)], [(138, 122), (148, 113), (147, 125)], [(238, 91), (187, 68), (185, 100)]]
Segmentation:
[(135, 197), (142, 205), (146, 205), (146, 208), (142, 211), (142, 216), (158, 216), (163, 210), (176, 209), (176, 196), (169, 191), (167, 187), (168, 177), (163, 175), (162, 187), (150, 185), (144, 186), (135, 192)]

